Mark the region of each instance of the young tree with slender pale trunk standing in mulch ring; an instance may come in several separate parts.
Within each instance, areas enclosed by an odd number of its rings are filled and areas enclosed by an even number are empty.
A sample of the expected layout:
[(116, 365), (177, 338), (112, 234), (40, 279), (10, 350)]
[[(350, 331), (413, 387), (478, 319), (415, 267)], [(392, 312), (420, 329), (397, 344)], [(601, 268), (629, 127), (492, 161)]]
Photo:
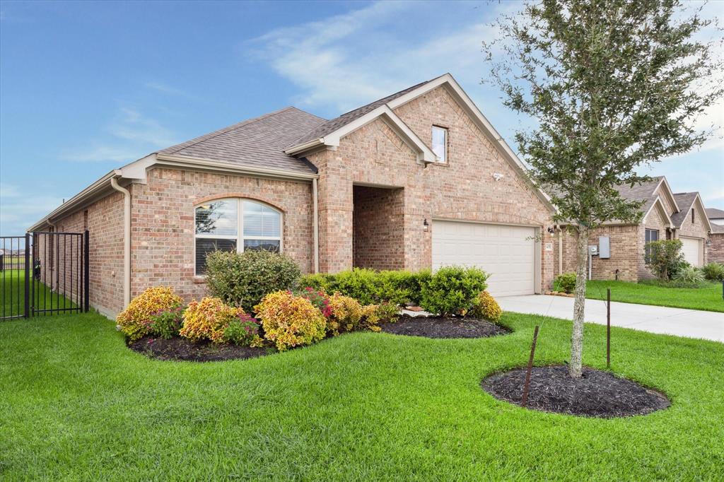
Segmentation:
[[(694, 120), (723, 93), (712, 20), (685, 17), (678, 0), (540, 0), (495, 23), (484, 43), (504, 103), (536, 126), (515, 135), (534, 184), (576, 236), (571, 376), (582, 373), (589, 235), (606, 221), (636, 222), (641, 203), (618, 185), (647, 181), (642, 164), (686, 153), (712, 130)], [(718, 32), (718, 31), (717, 31)]]

